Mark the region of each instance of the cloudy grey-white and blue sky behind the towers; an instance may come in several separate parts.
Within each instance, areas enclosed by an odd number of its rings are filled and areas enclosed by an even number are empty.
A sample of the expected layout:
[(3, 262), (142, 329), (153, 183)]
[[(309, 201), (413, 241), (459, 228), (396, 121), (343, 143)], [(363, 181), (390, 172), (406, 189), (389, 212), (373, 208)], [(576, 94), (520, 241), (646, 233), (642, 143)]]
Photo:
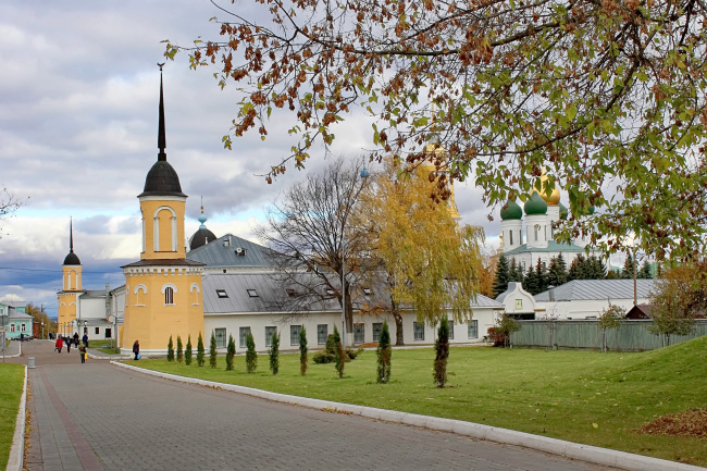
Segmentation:
[[(247, 14), (251, 3), (235, 8)], [(70, 218), (84, 287), (124, 282), (120, 267), (139, 260), (136, 197), (158, 152), (162, 41), (213, 38), (212, 16), (223, 13), (206, 0), (0, 0), (0, 188), (26, 201), (0, 223), (0, 300), (44, 303), (55, 315)], [(286, 123), (274, 123), (264, 142), (253, 134), (223, 149), (240, 97), (187, 59), (164, 66), (166, 153), (189, 195), (186, 232), (198, 228), (203, 197), (211, 231), (253, 239), (268, 204), (303, 176), (290, 170), (273, 185), (259, 176), (287, 154)], [(334, 153), (362, 154), (370, 122), (342, 127)], [(326, 163), (317, 152), (307, 171)], [(497, 244), (500, 224), (486, 220), (479, 190), (456, 189), (463, 222)]]

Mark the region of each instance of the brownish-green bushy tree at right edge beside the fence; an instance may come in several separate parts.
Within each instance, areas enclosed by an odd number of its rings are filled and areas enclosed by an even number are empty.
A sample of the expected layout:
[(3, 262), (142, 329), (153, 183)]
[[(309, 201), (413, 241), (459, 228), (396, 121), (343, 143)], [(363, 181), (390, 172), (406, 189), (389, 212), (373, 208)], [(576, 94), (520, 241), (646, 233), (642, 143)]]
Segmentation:
[(699, 260), (667, 270), (650, 294), (648, 330), (663, 335), (670, 345), (671, 335), (687, 335), (695, 319), (707, 315), (707, 261)]

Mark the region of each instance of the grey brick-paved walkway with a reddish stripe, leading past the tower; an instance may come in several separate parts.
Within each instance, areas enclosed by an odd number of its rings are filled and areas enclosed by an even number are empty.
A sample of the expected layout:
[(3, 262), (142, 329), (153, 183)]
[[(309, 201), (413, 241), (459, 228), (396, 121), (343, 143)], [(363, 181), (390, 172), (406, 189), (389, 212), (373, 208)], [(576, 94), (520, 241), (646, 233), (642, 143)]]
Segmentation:
[(604, 470), (450, 433), (282, 405), (112, 367), (48, 340), (29, 371), (25, 468), (45, 470)]

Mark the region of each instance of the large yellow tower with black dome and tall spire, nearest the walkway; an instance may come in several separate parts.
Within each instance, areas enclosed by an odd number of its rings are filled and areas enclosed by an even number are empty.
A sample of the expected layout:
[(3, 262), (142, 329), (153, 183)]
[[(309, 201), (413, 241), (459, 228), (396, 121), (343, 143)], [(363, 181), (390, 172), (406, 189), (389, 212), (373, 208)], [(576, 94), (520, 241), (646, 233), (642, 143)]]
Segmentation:
[[(160, 80), (158, 160), (138, 195), (142, 214), (140, 261), (123, 267), (125, 311), (121, 349), (139, 340), (141, 352), (163, 354), (170, 336), (196, 343), (203, 332), (203, 264), (186, 259), (184, 219), (187, 196), (166, 161), (164, 101)], [(206, 336), (204, 336), (206, 337)]]

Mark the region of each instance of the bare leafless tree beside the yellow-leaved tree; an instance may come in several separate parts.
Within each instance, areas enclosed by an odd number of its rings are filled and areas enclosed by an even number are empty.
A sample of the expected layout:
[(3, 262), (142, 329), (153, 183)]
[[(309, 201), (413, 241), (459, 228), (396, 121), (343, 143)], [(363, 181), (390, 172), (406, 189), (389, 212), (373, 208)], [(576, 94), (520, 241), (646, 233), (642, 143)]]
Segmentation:
[(284, 191), (270, 208), (266, 223), (256, 231), (272, 249), (268, 257), (283, 292), (292, 293), (281, 310), (297, 315), (313, 301), (336, 299), (339, 306), (346, 303), (349, 334), (354, 332), (351, 287), (361, 276), (359, 253), (365, 245), (363, 234), (351, 223), (367, 184), (363, 169), (363, 159), (346, 162), (339, 158), (320, 172), (308, 173)]

